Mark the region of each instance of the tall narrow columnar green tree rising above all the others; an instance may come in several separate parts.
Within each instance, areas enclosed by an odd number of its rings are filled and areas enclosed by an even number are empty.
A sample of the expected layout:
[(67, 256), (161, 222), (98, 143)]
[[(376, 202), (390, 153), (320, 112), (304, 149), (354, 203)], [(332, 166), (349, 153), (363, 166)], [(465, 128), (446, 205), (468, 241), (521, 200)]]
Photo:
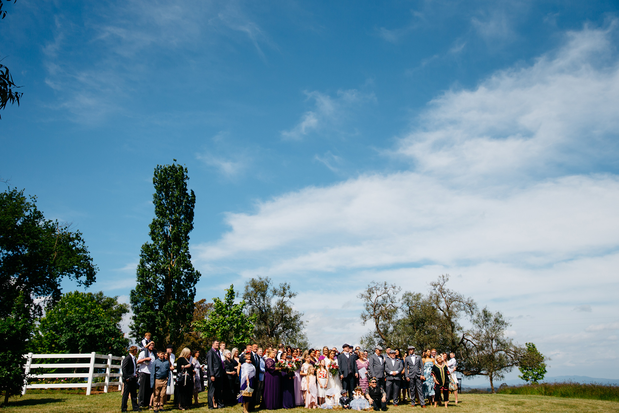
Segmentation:
[(187, 168), (180, 164), (155, 168), (155, 218), (149, 227), (152, 242), (142, 245), (137, 285), (130, 296), (133, 337), (139, 340), (150, 331), (157, 345), (175, 348), (191, 331), (195, 285), (200, 279), (189, 254), (196, 195), (193, 190), (188, 192), (188, 179)]

